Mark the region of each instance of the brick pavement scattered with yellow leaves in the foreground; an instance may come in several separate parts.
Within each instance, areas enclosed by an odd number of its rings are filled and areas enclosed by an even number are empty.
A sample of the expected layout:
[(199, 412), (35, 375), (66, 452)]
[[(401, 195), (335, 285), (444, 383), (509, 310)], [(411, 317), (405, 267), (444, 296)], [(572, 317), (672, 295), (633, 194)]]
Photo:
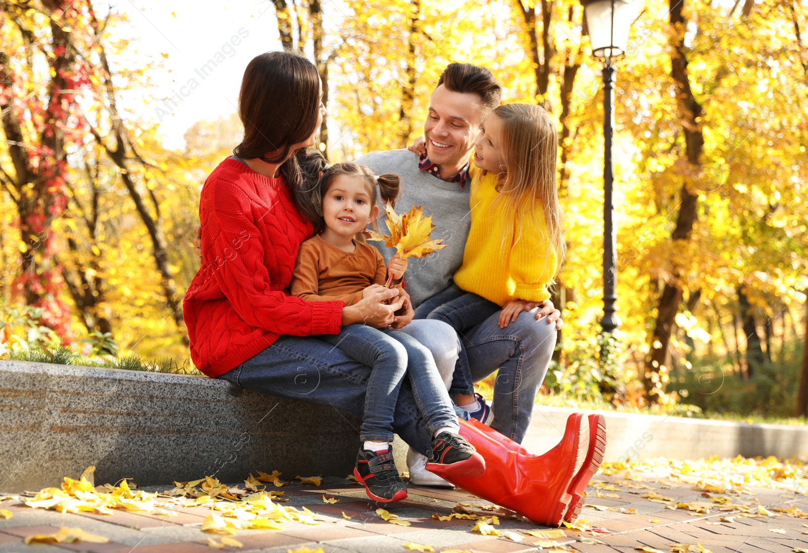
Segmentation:
[[(637, 479), (636, 473), (633, 475), (635, 479), (627, 480), (624, 476), (597, 475), (587, 488), (587, 501), (597, 507), (583, 509), (581, 517), (588, 523), (582, 526), (585, 529), (594, 526), (600, 531), (593, 533), (591, 530), (563, 529), (566, 535), (555, 539), (560, 546), (548, 551), (629, 553), (638, 551), (638, 547), (650, 547), (667, 553), (671, 551), (673, 543), (690, 544), (694, 547), (694, 553), (701, 551), (697, 547), (699, 544), (705, 551), (713, 553), (808, 550), (808, 518), (772, 511), (793, 509), (795, 506), (808, 510), (805, 495), (770, 488), (738, 488), (741, 492), (706, 493), (696, 489), (692, 483), (676, 483), (650, 476)], [(696, 480), (694, 478), (693, 483)], [(170, 489), (170, 486), (146, 489), (154, 492)], [(512, 513), (508, 516), (507, 512), (486, 510), (487, 501), (479, 500), (464, 490), (410, 485), (407, 500), (384, 506), (390, 513), (398, 515), (399, 520), (409, 521), (410, 526), (398, 526), (383, 520), (376, 513), (380, 505), (367, 500), (363, 489), (347, 479), (327, 478), (320, 487), (291, 484), (283, 490), (288, 497), (284, 506), (292, 505), (297, 509), (307, 507), (317, 514), (319, 524), (312, 526), (298, 521), (284, 521), (284, 530), (238, 530), (233, 537), (242, 542), (243, 547), (239, 550), (227, 546), (223, 551), (286, 553), (305, 546), (315, 551), (320, 547), (325, 553), (375, 553), (407, 551), (404, 545), (415, 542), (434, 547), (434, 551), (520, 553), (539, 551), (534, 542), (541, 538), (524, 534), (526, 530), (546, 529), (520, 520)], [(697, 510), (709, 511), (696, 513), (687, 508), (670, 509), (672, 504), (642, 497), (650, 492), (672, 498), (673, 504), (697, 502)], [(321, 498), (323, 494), (333, 496), (339, 502), (326, 504)], [(722, 501), (725, 503), (722, 504)], [(727, 507), (726, 501), (732, 505)], [(737, 504), (746, 505), (747, 509), (741, 510), (756, 516), (738, 516), (739, 509), (719, 510), (731, 509)], [(759, 504), (764, 505), (763, 512)], [(215, 551), (208, 547), (208, 538), (217, 542), (221, 539), (221, 536), (200, 530), (204, 517), (212, 512), (206, 507), (178, 506), (170, 509), (177, 514), (175, 517), (121, 510), (116, 510), (112, 515), (65, 514), (31, 509), (19, 499), (11, 499), (0, 502), (0, 509), (12, 513), (11, 518), (0, 517), (0, 553), (65, 553), (65, 550), (74, 553), (204, 553)], [(508, 535), (483, 536), (471, 532), (475, 523), (473, 520), (439, 521), (432, 517), (433, 514), (447, 515), (457, 509), (466, 509), (482, 516), (498, 514), (500, 523), (495, 528)], [(722, 517), (733, 515), (730, 521), (721, 521)], [(61, 526), (80, 527), (109, 538), (110, 542), (30, 545), (23, 542), (27, 536), (52, 534)], [(592, 541), (593, 538), (596, 541)]]

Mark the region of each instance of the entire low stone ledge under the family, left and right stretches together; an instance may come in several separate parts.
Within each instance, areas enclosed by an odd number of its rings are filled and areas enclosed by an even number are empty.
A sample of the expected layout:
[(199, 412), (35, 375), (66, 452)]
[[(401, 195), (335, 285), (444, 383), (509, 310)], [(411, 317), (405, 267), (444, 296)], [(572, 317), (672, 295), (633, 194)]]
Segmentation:
[[(562, 437), (567, 407), (536, 407), (525, 448)], [(604, 412), (606, 461), (808, 457), (808, 427)], [(58, 485), (97, 467), (99, 483), (167, 484), (217, 472), (345, 476), (360, 421), (315, 403), (280, 399), (213, 378), (0, 361), (0, 491)], [(403, 471), (406, 445), (396, 441)], [(218, 471), (217, 471), (218, 469)], [(254, 473), (255, 474), (255, 473)]]

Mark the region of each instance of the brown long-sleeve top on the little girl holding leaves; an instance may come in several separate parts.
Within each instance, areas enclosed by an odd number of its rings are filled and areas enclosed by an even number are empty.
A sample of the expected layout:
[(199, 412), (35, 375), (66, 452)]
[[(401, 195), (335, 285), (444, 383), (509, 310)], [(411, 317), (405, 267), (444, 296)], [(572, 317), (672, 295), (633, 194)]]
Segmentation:
[(319, 234), (302, 243), (289, 284), (292, 296), (307, 302), (341, 300), (352, 306), (369, 285), (384, 285), (387, 267), (381, 253), (368, 244), (355, 244), (355, 251), (342, 251)]

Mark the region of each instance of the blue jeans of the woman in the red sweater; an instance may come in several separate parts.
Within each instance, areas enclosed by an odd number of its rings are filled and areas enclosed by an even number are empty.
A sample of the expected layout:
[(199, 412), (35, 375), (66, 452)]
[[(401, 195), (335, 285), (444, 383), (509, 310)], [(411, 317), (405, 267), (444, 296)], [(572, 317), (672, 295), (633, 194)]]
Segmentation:
[[(405, 328), (413, 333), (419, 323), (413, 321)], [(442, 344), (457, 340), (455, 331), (446, 325), (429, 329), (431, 336), (439, 338)], [(219, 378), (268, 395), (330, 405), (337, 413), (344, 411), (361, 420), (364, 417), (365, 387), (371, 373), (371, 367), (318, 340), (317, 336), (280, 336), (263, 352)], [(438, 387), (445, 390), (444, 386)], [(452, 408), (448, 395), (436, 397)], [(457, 407), (455, 413), (465, 419), (469, 417)], [(403, 380), (398, 390), (393, 431), (420, 454), (427, 455), (431, 451), (429, 425), (409, 378)], [(358, 428), (356, 432), (359, 432)]]

